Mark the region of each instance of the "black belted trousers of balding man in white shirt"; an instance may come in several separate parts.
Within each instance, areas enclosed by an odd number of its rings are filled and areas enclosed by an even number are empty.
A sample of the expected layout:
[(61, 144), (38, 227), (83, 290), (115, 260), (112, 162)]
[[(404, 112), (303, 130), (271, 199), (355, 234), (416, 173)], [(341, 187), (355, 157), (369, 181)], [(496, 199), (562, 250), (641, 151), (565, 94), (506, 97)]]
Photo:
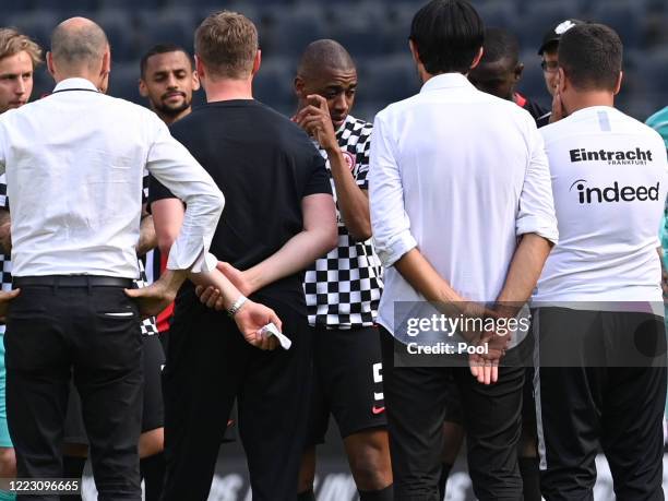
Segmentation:
[(73, 377), (99, 499), (141, 500), (142, 339), (136, 305), (123, 287), (22, 285), (10, 308), (4, 343), (8, 420), (19, 478), (62, 477)]

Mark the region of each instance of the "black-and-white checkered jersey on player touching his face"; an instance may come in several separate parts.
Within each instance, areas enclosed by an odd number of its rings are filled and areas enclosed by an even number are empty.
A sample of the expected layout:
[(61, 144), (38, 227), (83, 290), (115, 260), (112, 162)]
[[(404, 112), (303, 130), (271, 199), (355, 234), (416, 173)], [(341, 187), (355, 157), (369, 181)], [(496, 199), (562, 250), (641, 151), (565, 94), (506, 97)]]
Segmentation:
[[(336, 132), (353, 177), (363, 190), (369, 188), (367, 172), (371, 129), (371, 123), (348, 116)], [(327, 154), (322, 148), (319, 151), (326, 160), (336, 202), (338, 246), (306, 272), (303, 290), (309, 323), (331, 329), (370, 326), (375, 322), (383, 289), (382, 266), (370, 239), (357, 242), (348, 234), (338, 211)]]

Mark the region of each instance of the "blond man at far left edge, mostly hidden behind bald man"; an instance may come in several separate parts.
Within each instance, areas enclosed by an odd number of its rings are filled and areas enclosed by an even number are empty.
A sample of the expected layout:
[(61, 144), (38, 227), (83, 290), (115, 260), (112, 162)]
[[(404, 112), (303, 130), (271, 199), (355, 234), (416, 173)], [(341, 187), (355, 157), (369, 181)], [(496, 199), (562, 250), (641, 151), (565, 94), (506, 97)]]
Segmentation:
[[(33, 72), (41, 63), (41, 49), (14, 28), (0, 28), (0, 114), (25, 105), (33, 93)], [(10, 241), (9, 199), (5, 176), (0, 176), (0, 287), (12, 289), (12, 263), (7, 247)], [(4, 253), (7, 252), (7, 254)], [(4, 325), (0, 325), (0, 478), (16, 476), (16, 456), (7, 426), (4, 406)], [(15, 499), (0, 491), (0, 501)]]

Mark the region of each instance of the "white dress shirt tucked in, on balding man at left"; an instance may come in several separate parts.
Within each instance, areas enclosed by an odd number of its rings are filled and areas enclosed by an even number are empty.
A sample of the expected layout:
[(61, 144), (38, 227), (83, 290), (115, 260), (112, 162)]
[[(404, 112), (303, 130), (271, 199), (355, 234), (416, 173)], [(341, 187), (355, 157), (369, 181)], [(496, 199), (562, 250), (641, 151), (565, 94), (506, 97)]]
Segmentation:
[(223, 194), (152, 111), (68, 79), (0, 117), (14, 276), (138, 278), (145, 169), (187, 204), (167, 266), (206, 271)]

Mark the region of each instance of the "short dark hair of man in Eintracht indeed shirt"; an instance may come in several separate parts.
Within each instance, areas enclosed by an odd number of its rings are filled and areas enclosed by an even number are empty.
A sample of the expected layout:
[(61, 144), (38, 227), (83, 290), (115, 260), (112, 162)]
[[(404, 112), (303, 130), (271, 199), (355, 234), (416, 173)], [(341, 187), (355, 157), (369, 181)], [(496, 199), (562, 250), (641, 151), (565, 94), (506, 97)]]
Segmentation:
[(574, 87), (582, 91), (617, 87), (623, 46), (605, 24), (578, 24), (561, 36), (559, 65)]

